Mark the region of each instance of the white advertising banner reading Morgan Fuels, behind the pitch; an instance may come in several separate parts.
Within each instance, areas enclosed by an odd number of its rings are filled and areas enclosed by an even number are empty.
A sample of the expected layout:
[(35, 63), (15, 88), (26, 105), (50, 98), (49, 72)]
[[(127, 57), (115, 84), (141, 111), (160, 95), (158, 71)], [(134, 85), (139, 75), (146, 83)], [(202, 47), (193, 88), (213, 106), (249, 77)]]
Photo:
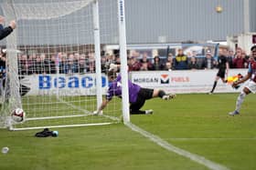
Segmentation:
[[(161, 88), (168, 93), (208, 93), (213, 86), (218, 69), (183, 71), (131, 72), (132, 82), (147, 88)], [(231, 69), (229, 76), (246, 75), (247, 69)], [(241, 87), (240, 87), (241, 88)], [(219, 79), (216, 93), (240, 92)]]

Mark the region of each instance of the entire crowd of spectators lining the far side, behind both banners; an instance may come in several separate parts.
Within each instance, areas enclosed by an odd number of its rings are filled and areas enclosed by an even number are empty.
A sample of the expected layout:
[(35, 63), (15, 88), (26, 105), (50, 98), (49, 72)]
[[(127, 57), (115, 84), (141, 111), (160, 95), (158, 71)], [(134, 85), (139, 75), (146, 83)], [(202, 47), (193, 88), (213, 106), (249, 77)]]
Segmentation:
[[(193, 54), (193, 53), (192, 53)], [(251, 60), (240, 47), (234, 52), (231, 49), (222, 49), (222, 54), (226, 55), (230, 68), (247, 68)], [(5, 58), (0, 57), (0, 60)], [(110, 64), (120, 64), (119, 55), (102, 55), (101, 71), (106, 72)], [(139, 53), (133, 51), (127, 56), (129, 71), (149, 71), (149, 70), (187, 70), (187, 69), (214, 69), (218, 67), (217, 58), (212, 52), (206, 50), (204, 56), (185, 55), (182, 49), (178, 49), (176, 54), (169, 53), (167, 56), (154, 57), (147, 52)], [(95, 56), (94, 53), (58, 53), (56, 55), (31, 54), (18, 55), (18, 71), (20, 75), (32, 74), (73, 74), (73, 73), (94, 73)]]

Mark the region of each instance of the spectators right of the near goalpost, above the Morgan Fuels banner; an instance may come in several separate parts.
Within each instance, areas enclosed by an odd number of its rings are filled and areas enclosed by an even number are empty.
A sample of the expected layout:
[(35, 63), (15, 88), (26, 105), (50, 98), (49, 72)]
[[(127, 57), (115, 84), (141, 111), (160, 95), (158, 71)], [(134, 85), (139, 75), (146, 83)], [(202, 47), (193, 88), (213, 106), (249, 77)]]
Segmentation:
[[(240, 47), (234, 52), (231, 49), (221, 48), (221, 54), (226, 55), (229, 61), (229, 68), (247, 68), (250, 62), (250, 55), (247, 55)], [(218, 68), (217, 57), (213, 52), (206, 50), (205, 55), (185, 55), (183, 49), (178, 49), (176, 55), (169, 53), (165, 57), (155, 55), (153, 59), (147, 53), (139, 54), (133, 52), (128, 55), (128, 66), (130, 71), (139, 70), (188, 70), (188, 69), (214, 69)]]

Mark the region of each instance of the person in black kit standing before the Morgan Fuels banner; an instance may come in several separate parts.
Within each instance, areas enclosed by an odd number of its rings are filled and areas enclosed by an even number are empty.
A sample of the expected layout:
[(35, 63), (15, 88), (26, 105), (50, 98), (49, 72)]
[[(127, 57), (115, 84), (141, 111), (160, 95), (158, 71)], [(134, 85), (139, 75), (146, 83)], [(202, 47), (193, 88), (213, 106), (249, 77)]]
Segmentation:
[(219, 78), (221, 78), (223, 83), (227, 83), (227, 81), (225, 80), (225, 75), (226, 77), (228, 77), (229, 74), (229, 61), (226, 57), (225, 54), (223, 54), (223, 52), (220, 50), (219, 51), (219, 57), (218, 57), (218, 67), (219, 67), (219, 71), (216, 75), (214, 84), (212, 86), (211, 91), (208, 93), (209, 95), (213, 94), (215, 87), (219, 81)]

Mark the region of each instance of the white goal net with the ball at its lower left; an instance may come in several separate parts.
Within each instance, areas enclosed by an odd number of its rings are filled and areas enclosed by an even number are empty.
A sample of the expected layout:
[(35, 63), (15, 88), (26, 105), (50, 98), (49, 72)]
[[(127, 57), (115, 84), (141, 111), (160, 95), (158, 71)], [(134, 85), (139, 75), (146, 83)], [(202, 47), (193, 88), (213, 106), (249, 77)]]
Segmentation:
[[(117, 0), (9, 0), (0, 3), (16, 30), (6, 38), (6, 74), (0, 126), (14, 130), (120, 122), (113, 98), (102, 116), (92, 115), (106, 95), (106, 72), (119, 54)], [(23, 108), (26, 121), (10, 116)]]

